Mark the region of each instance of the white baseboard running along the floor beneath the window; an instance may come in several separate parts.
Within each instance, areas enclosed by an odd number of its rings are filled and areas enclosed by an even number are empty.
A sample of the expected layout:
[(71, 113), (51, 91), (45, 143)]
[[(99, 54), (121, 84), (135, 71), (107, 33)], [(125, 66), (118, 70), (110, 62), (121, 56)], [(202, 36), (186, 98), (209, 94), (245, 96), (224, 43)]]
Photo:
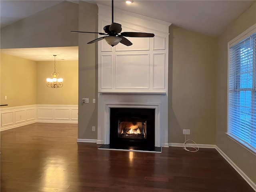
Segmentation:
[(220, 149), (216, 146), (216, 150), (220, 155), (240, 174), (240, 176), (256, 191), (256, 184)]

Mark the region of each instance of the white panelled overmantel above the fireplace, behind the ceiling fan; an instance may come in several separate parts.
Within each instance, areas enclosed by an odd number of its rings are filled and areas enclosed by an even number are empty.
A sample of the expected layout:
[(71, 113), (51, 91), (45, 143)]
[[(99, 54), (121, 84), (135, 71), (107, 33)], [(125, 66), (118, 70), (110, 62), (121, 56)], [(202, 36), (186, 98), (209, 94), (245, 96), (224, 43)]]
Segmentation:
[[(98, 4), (98, 8), (98, 31), (103, 32), (104, 26), (111, 24), (111, 7)], [(127, 37), (133, 43), (131, 46), (119, 43), (112, 47), (105, 40), (98, 42), (98, 92), (168, 93), (168, 41), (171, 23), (118, 9), (114, 9), (114, 14), (118, 15), (115, 22), (122, 25), (122, 32), (147, 32), (154, 33), (155, 36)], [(160, 53), (164, 54), (156, 55)], [(112, 60), (106, 55), (111, 55)]]

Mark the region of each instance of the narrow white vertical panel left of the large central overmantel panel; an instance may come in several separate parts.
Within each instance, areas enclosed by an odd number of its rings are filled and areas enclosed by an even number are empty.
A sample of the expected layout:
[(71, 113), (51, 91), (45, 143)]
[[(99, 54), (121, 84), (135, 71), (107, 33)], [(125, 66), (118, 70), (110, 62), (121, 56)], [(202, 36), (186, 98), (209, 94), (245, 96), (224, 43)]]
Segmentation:
[(112, 88), (112, 55), (101, 56), (101, 88)]

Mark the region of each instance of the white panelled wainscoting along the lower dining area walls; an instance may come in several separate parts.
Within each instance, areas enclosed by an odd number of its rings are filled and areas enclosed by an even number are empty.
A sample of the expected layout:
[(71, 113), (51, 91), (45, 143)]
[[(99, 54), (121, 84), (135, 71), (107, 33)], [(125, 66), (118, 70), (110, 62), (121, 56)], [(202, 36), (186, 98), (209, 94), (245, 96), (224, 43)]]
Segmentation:
[(0, 131), (35, 122), (78, 123), (78, 105), (28, 105), (0, 109)]

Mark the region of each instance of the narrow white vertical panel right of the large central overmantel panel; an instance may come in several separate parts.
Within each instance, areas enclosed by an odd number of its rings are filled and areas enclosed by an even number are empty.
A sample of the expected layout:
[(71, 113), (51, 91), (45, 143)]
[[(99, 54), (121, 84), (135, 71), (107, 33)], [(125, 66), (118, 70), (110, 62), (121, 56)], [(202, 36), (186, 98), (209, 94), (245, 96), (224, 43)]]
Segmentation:
[(164, 89), (165, 54), (153, 54), (153, 89)]

